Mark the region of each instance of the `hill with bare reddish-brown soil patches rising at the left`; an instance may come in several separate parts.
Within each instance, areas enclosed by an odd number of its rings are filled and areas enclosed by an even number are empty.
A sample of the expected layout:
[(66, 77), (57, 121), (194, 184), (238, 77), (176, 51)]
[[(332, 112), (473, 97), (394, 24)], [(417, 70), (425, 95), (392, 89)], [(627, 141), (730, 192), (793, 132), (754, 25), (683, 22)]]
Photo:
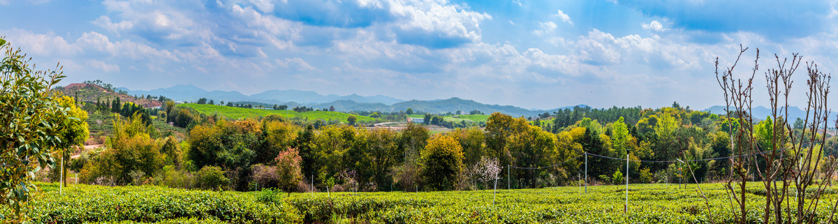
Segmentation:
[(123, 103), (132, 102), (145, 108), (158, 107), (162, 104), (156, 99), (134, 98), (132, 95), (118, 94), (96, 84), (68, 84), (54, 90), (61, 92), (61, 94), (78, 96), (81, 101), (90, 103), (96, 103), (97, 99), (101, 102), (109, 102), (119, 97), (119, 100)]

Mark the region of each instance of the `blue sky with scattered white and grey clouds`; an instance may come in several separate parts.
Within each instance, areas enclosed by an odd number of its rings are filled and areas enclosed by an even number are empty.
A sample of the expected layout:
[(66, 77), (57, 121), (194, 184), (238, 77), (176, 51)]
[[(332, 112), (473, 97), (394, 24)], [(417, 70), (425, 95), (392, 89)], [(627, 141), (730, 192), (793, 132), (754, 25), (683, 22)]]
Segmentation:
[[(752, 74), (800, 53), (838, 62), (838, 0), (827, 1), (17, 1), (0, 36), (61, 84), (128, 89), (194, 84), (257, 94), (459, 97), (551, 109), (724, 104), (715, 60)], [(791, 104), (805, 104), (805, 64)], [(834, 98), (834, 97), (833, 97)], [(835, 100), (830, 105), (835, 108)]]

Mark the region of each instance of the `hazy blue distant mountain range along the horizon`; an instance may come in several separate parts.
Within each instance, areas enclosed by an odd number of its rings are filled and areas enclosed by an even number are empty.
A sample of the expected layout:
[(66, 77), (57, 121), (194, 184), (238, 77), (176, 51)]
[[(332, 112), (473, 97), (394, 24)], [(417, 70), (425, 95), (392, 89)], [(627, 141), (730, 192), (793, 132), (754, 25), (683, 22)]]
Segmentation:
[[(315, 109), (323, 109), (334, 106), (338, 111), (404, 111), (408, 108), (416, 112), (443, 114), (447, 112), (463, 111), (468, 114), (469, 111), (479, 110), (485, 114), (500, 112), (512, 116), (536, 116), (544, 113), (551, 113), (558, 109), (572, 109), (575, 106), (561, 107), (556, 109), (524, 109), (511, 105), (498, 104), (482, 104), (470, 99), (433, 99), (433, 100), (402, 100), (384, 95), (361, 96), (358, 94), (350, 94), (339, 96), (335, 94), (318, 94), (314, 91), (302, 90), (267, 90), (259, 94), (241, 94), (238, 91), (207, 91), (200, 89), (192, 84), (178, 84), (169, 88), (153, 89), (153, 90), (131, 90), (127, 88), (117, 88), (127, 91), (128, 94), (137, 95), (163, 95), (170, 99), (183, 101), (196, 101), (200, 98), (214, 99), (215, 102), (224, 100), (225, 102), (249, 101), (259, 102), (264, 104), (280, 104), (287, 105), (289, 108), (297, 106), (313, 107)], [(580, 107), (587, 107), (587, 105), (580, 104)]]

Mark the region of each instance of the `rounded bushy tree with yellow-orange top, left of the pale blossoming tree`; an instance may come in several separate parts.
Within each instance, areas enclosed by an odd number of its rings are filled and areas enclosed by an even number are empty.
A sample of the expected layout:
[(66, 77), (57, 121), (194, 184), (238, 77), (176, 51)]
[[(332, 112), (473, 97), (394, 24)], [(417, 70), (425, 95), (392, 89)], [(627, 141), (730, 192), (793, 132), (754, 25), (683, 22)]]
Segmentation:
[(422, 176), (433, 190), (452, 189), (463, 169), (463, 146), (448, 135), (436, 135), (422, 150)]

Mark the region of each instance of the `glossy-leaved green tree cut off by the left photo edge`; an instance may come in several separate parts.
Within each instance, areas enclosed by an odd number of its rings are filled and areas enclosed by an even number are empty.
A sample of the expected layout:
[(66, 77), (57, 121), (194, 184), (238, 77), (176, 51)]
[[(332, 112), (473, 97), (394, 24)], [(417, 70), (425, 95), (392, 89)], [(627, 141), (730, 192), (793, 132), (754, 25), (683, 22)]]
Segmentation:
[[(0, 37), (5, 58), (0, 61), (0, 205), (14, 211), (14, 220), (25, 221), (24, 205), (35, 191), (35, 171), (54, 166), (53, 150), (67, 109), (50, 96), (50, 89), (65, 76), (60, 67), (35, 71), (26, 55)], [(0, 217), (2, 218), (2, 217)]]

